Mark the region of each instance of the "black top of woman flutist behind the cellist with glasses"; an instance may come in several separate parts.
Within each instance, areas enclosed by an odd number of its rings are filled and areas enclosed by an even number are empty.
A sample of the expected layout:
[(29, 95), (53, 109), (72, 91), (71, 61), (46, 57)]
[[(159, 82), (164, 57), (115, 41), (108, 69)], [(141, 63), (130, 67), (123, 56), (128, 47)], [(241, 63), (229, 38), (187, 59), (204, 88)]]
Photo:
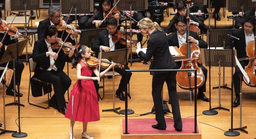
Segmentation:
[[(195, 15), (189, 15), (189, 17), (191, 18), (191, 20), (199, 23), (199, 26), (198, 28), (200, 30), (203, 30), (203, 31), (206, 31), (207, 30), (207, 27), (206, 25), (201, 22)], [(170, 23), (168, 24), (168, 26), (164, 29), (164, 32), (169, 34), (170, 32), (175, 32), (177, 31), (177, 29), (175, 28), (175, 22), (176, 22), (176, 18), (178, 18), (177, 15), (175, 15), (171, 20), (170, 20)]]

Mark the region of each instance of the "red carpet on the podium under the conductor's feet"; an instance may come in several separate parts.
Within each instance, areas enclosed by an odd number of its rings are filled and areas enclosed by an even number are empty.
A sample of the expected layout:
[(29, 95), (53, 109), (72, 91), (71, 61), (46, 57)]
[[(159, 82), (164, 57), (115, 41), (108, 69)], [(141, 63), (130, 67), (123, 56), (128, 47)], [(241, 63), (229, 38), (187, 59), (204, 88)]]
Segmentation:
[[(123, 131), (125, 131), (125, 119), (122, 119), (122, 122)], [(174, 129), (172, 118), (165, 118), (165, 122), (166, 130), (158, 130), (151, 127), (153, 124), (157, 124), (155, 118), (128, 119), (128, 132), (130, 134), (189, 134), (194, 132), (194, 118), (182, 118), (181, 132)]]

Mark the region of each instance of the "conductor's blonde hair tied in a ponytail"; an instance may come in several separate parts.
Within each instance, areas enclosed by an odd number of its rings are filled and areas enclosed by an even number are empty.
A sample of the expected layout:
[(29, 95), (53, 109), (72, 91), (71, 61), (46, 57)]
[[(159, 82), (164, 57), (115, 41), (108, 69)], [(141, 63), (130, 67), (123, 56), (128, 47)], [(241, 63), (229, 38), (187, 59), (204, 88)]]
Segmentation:
[(162, 29), (160, 28), (160, 26), (158, 25), (158, 23), (156, 22), (152, 22), (152, 20), (150, 20), (149, 18), (143, 18), (141, 19), (137, 26), (141, 27), (141, 28), (146, 28), (148, 27), (149, 30), (154, 30), (155, 28), (158, 30), (158, 31), (162, 31)]

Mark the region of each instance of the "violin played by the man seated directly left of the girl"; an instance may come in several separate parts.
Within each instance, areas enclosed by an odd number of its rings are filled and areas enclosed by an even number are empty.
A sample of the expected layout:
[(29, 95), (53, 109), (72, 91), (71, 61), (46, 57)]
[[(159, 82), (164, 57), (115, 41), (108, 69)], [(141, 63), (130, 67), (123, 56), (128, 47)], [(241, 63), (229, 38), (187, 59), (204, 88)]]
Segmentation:
[[(57, 40), (56, 40), (55, 43), (51, 43), (51, 47), (52, 47), (52, 49), (54, 49), (54, 50), (55, 50), (55, 49), (60, 49), (63, 43), (64, 43), (64, 42), (62, 41), (62, 39), (57, 38)], [(63, 49), (63, 51), (64, 51), (64, 53), (65, 53), (66, 55), (69, 53), (69, 51), (70, 51), (72, 48), (73, 48), (73, 46), (72, 46), (72, 43), (70, 43), (70, 42), (65, 42), (65, 43), (63, 44), (63, 47), (62, 47), (62, 49)]]

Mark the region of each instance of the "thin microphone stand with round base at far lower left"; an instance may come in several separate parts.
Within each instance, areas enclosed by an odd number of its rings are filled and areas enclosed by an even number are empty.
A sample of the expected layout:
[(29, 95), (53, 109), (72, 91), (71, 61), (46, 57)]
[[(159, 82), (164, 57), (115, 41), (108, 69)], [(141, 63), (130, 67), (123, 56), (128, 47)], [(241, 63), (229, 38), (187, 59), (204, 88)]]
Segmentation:
[[(19, 44), (18, 44), (18, 39), (16, 39), (16, 44), (17, 44), (17, 63), (18, 63), (19, 62), (19, 55), (18, 55), (19, 54), (19, 49), (18, 49), (19, 48)], [(13, 57), (13, 65), (15, 65), (14, 57)], [(18, 72), (18, 68), (17, 68), (17, 72)], [(14, 77), (14, 82), (15, 82), (15, 72), (13, 73), (13, 77)], [(15, 84), (14, 84), (14, 88), (15, 88)], [(21, 103), (20, 103), (20, 82), (17, 82), (17, 88), (18, 88), (18, 122), (19, 122), (19, 132), (13, 133), (13, 134), (11, 134), (11, 136), (14, 137), (14, 138), (24, 138), (24, 137), (28, 136), (28, 134), (25, 133), (25, 132), (21, 132), (21, 122), (20, 122), (20, 119), (21, 119), (21, 117), (20, 117), (20, 112), (21, 112), (20, 111), (20, 107), (21, 107)], [(14, 94), (15, 93), (16, 93), (16, 91), (14, 90)], [(23, 107), (24, 107), (24, 105), (23, 105)]]

